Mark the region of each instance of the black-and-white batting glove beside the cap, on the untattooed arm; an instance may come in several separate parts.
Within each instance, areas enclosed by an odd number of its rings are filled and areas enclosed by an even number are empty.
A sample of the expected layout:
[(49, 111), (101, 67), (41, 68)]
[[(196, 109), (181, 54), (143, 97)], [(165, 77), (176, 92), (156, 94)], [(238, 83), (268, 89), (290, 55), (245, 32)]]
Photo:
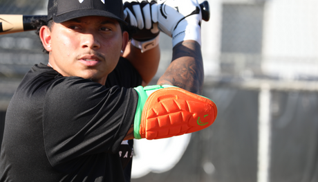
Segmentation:
[[(150, 1), (150, 2), (149, 2)], [(158, 12), (156, 1), (124, 1), (126, 21), (136, 27), (131, 44), (140, 48), (142, 53), (159, 44)]]

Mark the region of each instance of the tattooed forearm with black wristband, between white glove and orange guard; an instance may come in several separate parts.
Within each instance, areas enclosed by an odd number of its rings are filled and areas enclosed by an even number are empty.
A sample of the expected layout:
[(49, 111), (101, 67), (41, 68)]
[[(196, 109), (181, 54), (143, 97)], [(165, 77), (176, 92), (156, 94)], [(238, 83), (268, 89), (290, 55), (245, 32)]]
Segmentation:
[(157, 84), (171, 84), (192, 93), (202, 94), (203, 80), (200, 45), (187, 40), (174, 46), (172, 62)]

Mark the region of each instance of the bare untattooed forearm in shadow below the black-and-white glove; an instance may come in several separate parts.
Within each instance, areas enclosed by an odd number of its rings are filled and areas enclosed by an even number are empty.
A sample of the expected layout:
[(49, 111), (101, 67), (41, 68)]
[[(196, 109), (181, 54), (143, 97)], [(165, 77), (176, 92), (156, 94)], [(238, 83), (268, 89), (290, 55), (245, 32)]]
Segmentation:
[(146, 86), (156, 75), (160, 61), (160, 48), (156, 46), (144, 53), (139, 48), (135, 48), (130, 42), (124, 51), (123, 57), (127, 58), (131, 64), (137, 69)]

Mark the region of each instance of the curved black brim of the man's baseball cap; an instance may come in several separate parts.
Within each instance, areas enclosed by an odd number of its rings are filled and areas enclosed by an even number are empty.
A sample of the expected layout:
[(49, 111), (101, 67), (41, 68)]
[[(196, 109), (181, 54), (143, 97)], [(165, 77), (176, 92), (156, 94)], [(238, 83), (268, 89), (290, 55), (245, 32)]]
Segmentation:
[(71, 19), (75, 19), (79, 17), (88, 17), (88, 16), (109, 17), (109, 18), (116, 19), (122, 22), (124, 25), (128, 25), (128, 23), (124, 21), (123, 19), (120, 19), (120, 17), (113, 15), (113, 13), (111, 12), (103, 11), (103, 10), (74, 10), (74, 11), (66, 12), (62, 15), (57, 15), (53, 17), (53, 21), (59, 24)]

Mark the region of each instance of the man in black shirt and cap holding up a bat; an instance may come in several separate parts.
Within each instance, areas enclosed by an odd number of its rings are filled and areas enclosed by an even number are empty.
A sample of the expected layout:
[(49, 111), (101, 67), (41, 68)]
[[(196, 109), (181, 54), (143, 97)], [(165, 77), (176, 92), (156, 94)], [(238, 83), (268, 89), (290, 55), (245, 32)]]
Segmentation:
[[(214, 103), (194, 94), (203, 86), (200, 11), (181, 21), (183, 8), (161, 6), (170, 12), (157, 19), (174, 38), (173, 62), (157, 86), (141, 87), (156, 73), (160, 50), (152, 44), (141, 52), (138, 40), (129, 42), (122, 27), (133, 14), (124, 12), (121, 0), (49, 0), (47, 25), (38, 30), (48, 65), (33, 66), (10, 102), (0, 181), (125, 181), (131, 161), (121, 157), (132, 156), (126, 140), (167, 138), (212, 124)], [(165, 22), (167, 16), (180, 22)]]

